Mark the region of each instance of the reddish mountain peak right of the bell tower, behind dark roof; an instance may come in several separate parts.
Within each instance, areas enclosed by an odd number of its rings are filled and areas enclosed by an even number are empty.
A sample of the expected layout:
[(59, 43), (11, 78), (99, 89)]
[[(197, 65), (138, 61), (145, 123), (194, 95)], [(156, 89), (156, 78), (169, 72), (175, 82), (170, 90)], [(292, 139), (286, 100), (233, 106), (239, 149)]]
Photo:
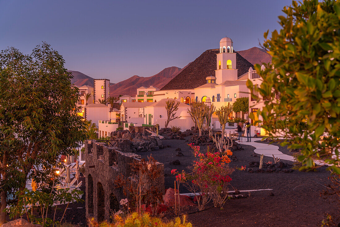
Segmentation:
[(253, 65), (261, 65), (262, 63), (268, 63), (272, 61), (272, 56), (270, 56), (266, 50), (258, 47), (252, 47), (248, 50), (241, 50), (237, 52)]

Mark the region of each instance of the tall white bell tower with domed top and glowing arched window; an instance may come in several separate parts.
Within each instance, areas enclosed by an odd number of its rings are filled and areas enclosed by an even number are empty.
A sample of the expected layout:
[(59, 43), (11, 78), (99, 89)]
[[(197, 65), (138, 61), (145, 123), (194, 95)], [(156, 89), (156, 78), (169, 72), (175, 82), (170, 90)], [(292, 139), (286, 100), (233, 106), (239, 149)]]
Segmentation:
[(224, 37), (220, 41), (220, 51), (216, 62), (216, 83), (221, 84), (226, 80), (237, 80), (236, 53), (233, 49), (233, 40)]

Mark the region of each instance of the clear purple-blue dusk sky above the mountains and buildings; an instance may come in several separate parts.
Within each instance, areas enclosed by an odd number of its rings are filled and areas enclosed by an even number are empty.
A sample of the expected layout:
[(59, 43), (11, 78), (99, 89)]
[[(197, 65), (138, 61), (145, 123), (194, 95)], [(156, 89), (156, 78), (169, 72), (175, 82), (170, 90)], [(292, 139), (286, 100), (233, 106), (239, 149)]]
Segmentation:
[(234, 50), (259, 47), (291, 0), (0, 0), (0, 49), (25, 54), (41, 42), (69, 70), (112, 83), (183, 68), (221, 38)]

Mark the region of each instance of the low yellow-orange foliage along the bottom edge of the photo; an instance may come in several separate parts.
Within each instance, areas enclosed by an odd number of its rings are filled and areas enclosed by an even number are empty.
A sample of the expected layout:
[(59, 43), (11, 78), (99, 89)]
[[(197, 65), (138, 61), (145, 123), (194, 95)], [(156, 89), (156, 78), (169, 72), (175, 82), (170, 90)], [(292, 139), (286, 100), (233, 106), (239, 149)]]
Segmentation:
[(159, 218), (150, 217), (148, 213), (139, 215), (132, 213), (123, 219), (119, 215), (115, 215), (114, 223), (102, 222), (97, 223), (94, 218), (88, 220), (90, 227), (192, 227), (190, 222), (186, 222), (185, 215), (181, 218), (176, 217), (174, 221), (163, 222)]

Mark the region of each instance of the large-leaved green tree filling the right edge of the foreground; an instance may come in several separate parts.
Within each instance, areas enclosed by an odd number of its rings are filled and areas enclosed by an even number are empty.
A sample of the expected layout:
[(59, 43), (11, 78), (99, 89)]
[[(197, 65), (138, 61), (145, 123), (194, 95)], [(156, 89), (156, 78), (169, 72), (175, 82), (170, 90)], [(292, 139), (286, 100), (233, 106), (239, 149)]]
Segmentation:
[[(329, 164), (339, 163), (340, 137), (340, 2), (332, 0), (292, 2), (279, 16), (282, 26), (271, 38), (265, 33), (263, 47), (272, 64), (255, 68), (263, 79), (257, 89), (267, 97), (258, 111), (269, 136), (279, 133), (290, 148), (301, 148), (307, 167), (321, 155)], [(253, 84), (247, 82), (252, 90)], [(280, 99), (276, 99), (279, 96)], [(253, 98), (257, 98), (252, 94)], [(251, 117), (254, 116), (251, 114)], [(330, 152), (329, 152), (330, 151)], [(335, 156), (332, 158), (332, 152)], [(330, 166), (337, 174), (340, 169)]]

